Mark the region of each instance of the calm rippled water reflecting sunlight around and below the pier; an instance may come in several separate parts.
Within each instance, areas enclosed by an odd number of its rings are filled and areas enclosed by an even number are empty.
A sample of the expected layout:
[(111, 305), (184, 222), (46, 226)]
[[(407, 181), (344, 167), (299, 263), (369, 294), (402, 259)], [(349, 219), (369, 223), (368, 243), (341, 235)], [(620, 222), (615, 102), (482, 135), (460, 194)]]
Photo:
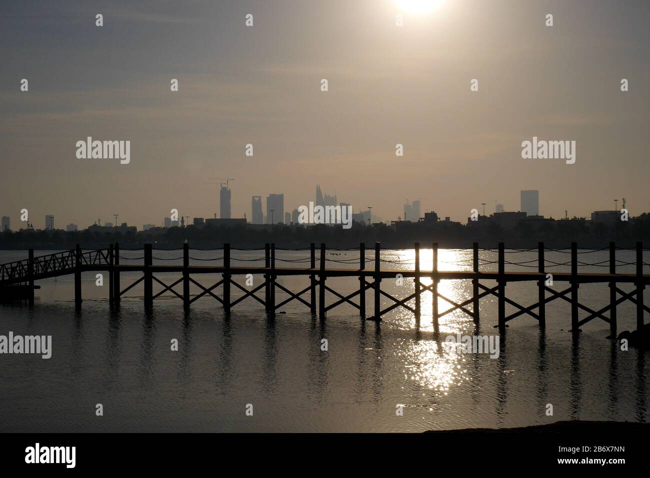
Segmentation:
[[(372, 258), (372, 252), (368, 254)], [(471, 254), (440, 251), (439, 267), (469, 268), (471, 262), (466, 261)], [(122, 255), (143, 254), (123, 251)], [(153, 255), (178, 258), (181, 252), (154, 251)], [(194, 264), (217, 264), (196, 259), (221, 255), (221, 251), (190, 252)], [(0, 262), (26, 256), (23, 251), (0, 251)], [(233, 251), (236, 258), (261, 256), (259, 251)], [(278, 252), (278, 257), (296, 260), (307, 253)], [(413, 251), (385, 251), (382, 258), (406, 262), (382, 264), (382, 268), (412, 267), (413, 257)], [(481, 257), (495, 260), (496, 254), (486, 252)], [(547, 253), (554, 262), (569, 257)], [(354, 264), (328, 266), (356, 267), (358, 253), (332, 251), (328, 258)], [(506, 258), (536, 260), (536, 252)], [(634, 253), (621, 251), (617, 258), (633, 262)], [(590, 263), (607, 259), (606, 252), (580, 255), (580, 260)], [(239, 264), (250, 262), (233, 261)], [(421, 267), (431, 269), (430, 250), (422, 251)], [(567, 268), (549, 269), (560, 270)], [(595, 266), (580, 270), (606, 271)], [(633, 268), (621, 271), (633, 272)], [(139, 277), (123, 273), (122, 288)], [(159, 278), (170, 284), (179, 275)], [(204, 286), (220, 279), (217, 275), (193, 278)], [(545, 334), (539, 333), (537, 321), (530, 316), (510, 321), (500, 357), (489, 359), (489, 355), (456, 354), (444, 341), (458, 332), (495, 334), (496, 297), (481, 299), (480, 327), (456, 311), (441, 318), (440, 334), (434, 336), (430, 294), (422, 296), (417, 329), (403, 308), (375, 323), (360, 320), (355, 308), (344, 305), (320, 321), (297, 301), (285, 306), (286, 313), (274, 321), (267, 320), (263, 306), (252, 299), (233, 308), (229, 319), (212, 297), (201, 297), (185, 315), (177, 297), (165, 296), (154, 301), (151, 314), (145, 314), (142, 284), (112, 311), (105, 279), (99, 287), (94, 273), (83, 275), (84, 303), (78, 313), (72, 301), (72, 275), (40, 281), (42, 289), (36, 292), (32, 309), (24, 304), (0, 305), (0, 334), (53, 336), (49, 360), (40, 355), (0, 355), (0, 431), (424, 431), (557, 420), (648, 421), (650, 354), (617, 349), (606, 340), (609, 326), (602, 320), (584, 325), (574, 342), (567, 332), (571, 317), (565, 301), (547, 305)], [(255, 276), (254, 284), (261, 280)], [(306, 277), (278, 279), (294, 291), (305, 288), (307, 281)], [(241, 277), (238, 282), (244, 284)], [(354, 292), (358, 281), (328, 279), (328, 286), (346, 295)], [(556, 283), (555, 288), (564, 290), (565, 284)], [(159, 290), (161, 286), (154, 283), (154, 293)], [(180, 284), (176, 290), (181, 291)], [(382, 290), (408, 296), (413, 281), (404, 279), (404, 285), (398, 286), (384, 280)], [(470, 297), (471, 283), (444, 281), (439, 290), (461, 302)], [(537, 301), (535, 283), (508, 284), (507, 290), (510, 298), (525, 305)], [(580, 301), (597, 310), (608, 303), (608, 290), (606, 284), (582, 285)], [(192, 293), (198, 292), (192, 286)], [(231, 293), (241, 295), (234, 286)], [(263, 296), (263, 291), (258, 294)], [(276, 295), (278, 303), (286, 297), (279, 290)], [(328, 297), (328, 303), (333, 300)], [(370, 315), (370, 291), (367, 305)], [(388, 299), (382, 297), (382, 308), (387, 305)], [(448, 305), (441, 300), (439, 307), (443, 311)], [(619, 306), (619, 331), (635, 327), (634, 307), (632, 303)], [(506, 312), (512, 311), (508, 306)], [(320, 350), (322, 338), (328, 339), (328, 351)], [(178, 340), (179, 351), (170, 350), (172, 339)], [(104, 416), (96, 416), (97, 403), (103, 404)], [(253, 405), (253, 416), (245, 414), (248, 403)], [(404, 404), (404, 416), (395, 414), (398, 403)], [(547, 403), (554, 407), (552, 417), (545, 415)]]

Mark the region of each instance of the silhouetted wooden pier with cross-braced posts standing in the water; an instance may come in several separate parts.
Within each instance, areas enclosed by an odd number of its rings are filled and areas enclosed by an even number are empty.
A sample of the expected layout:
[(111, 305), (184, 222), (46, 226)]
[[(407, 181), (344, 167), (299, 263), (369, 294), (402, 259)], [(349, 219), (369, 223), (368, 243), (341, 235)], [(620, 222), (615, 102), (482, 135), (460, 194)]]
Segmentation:
[[(245, 299), (253, 299), (261, 303), (265, 307), (266, 314), (274, 316), (276, 311), (287, 305), (292, 301), (298, 301), (307, 307), (313, 316), (318, 316), (322, 319), (326, 318), (327, 313), (339, 305), (348, 304), (352, 305), (359, 310), (359, 315), (367, 320), (381, 320), (382, 316), (391, 312), (395, 308), (402, 307), (412, 312), (415, 320), (419, 322), (421, 318), (421, 299), (424, 292), (431, 292), (432, 295), (432, 320), (435, 330), (438, 329), (439, 318), (450, 314), (454, 310), (461, 310), (468, 314), (478, 323), (480, 321), (480, 299), (487, 296), (495, 296), (498, 300), (498, 325), (500, 331), (504, 330), (506, 323), (519, 316), (527, 314), (532, 316), (539, 322), (539, 327), (545, 327), (545, 306), (547, 303), (556, 299), (562, 299), (571, 305), (571, 331), (578, 332), (581, 325), (599, 318), (610, 324), (612, 334), (616, 334), (617, 318), (616, 308), (617, 305), (630, 301), (636, 305), (636, 328), (640, 330), (643, 327), (644, 313), (650, 312), (650, 308), (643, 303), (643, 290), (646, 284), (650, 283), (650, 275), (643, 274), (643, 245), (639, 242), (636, 244), (636, 266), (635, 273), (617, 273), (617, 259), (616, 259), (616, 245), (612, 242), (608, 248), (609, 260), (608, 264), (604, 264), (608, 268), (606, 273), (578, 273), (579, 266), (603, 266), (599, 264), (584, 264), (578, 261), (578, 247), (574, 242), (571, 244), (570, 252), (564, 250), (563, 252), (570, 254), (570, 262), (558, 265), (570, 265), (571, 270), (567, 272), (554, 272), (552, 273), (552, 280), (554, 283), (565, 284), (564, 290), (555, 290), (545, 284), (546, 281), (546, 262), (545, 249), (543, 243), (539, 243), (537, 249), (508, 249), (506, 250), (503, 243), (499, 244), (497, 249), (498, 260), (495, 262), (480, 263), (479, 251), (489, 251), (491, 249), (479, 249), (478, 244), (474, 243), (473, 259), (471, 263), (471, 270), (462, 271), (440, 271), (438, 270), (438, 245), (431, 244), (432, 247), (432, 264), (431, 270), (421, 270), (420, 268), (420, 244), (414, 245), (415, 249), (415, 267), (413, 270), (388, 270), (382, 269), (381, 249), (380, 244), (374, 244), (374, 268), (367, 269), (366, 262), (369, 260), (366, 257), (365, 244), (360, 244), (359, 263), (354, 268), (328, 268), (327, 262), (331, 259), (326, 258), (325, 244), (320, 244), (317, 251), (315, 244), (311, 244), (309, 248), (309, 267), (278, 267), (276, 266), (276, 246), (274, 244), (266, 244), (264, 266), (233, 266), (231, 264), (231, 251), (238, 249), (231, 249), (229, 244), (224, 244), (221, 249), (223, 256), (214, 260), (221, 260), (221, 265), (205, 265), (199, 266), (190, 264), (190, 247), (188, 244), (183, 245), (183, 264), (182, 265), (160, 265), (153, 264), (153, 249), (151, 244), (144, 245), (144, 257), (141, 264), (120, 264), (120, 246), (118, 244), (110, 245), (107, 249), (99, 249), (95, 251), (82, 251), (81, 247), (77, 245), (72, 251), (65, 251), (62, 253), (55, 253), (45, 255), (42, 257), (34, 257), (34, 251), (29, 250), (29, 258), (17, 262), (10, 262), (8, 264), (0, 265), (0, 288), (8, 288), (9, 286), (23, 286), (22, 290), (27, 291), (28, 299), (31, 304), (34, 301), (34, 281), (40, 279), (47, 279), (50, 277), (58, 277), (60, 275), (74, 274), (75, 278), (75, 303), (77, 307), (81, 307), (82, 303), (82, 290), (81, 290), (81, 274), (83, 272), (107, 272), (109, 273), (109, 300), (110, 304), (117, 306), (120, 304), (120, 299), (124, 294), (129, 292), (137, 284), (144, 284), (144, 305), (147, 308), (153, 307), (153, 301), (158, 299), (163, 294), (172, 294), (178, 297), (183, 302), (183, 307), (187, 310), (190, 305), (201, 297), (212, 297), (222, 304), (226, 314), (229, 314), (231, 309)], [(604, 251), (606, 249), (597, 249), (595, 251)], [(517, 263), (506, 261), (506, 254), (513, 252), (537, 252), (538, 260), (536, 266), (530, 264)], [(557, 249), (554, 249), (557, 251)], [(317, 266), (317, 252), (318, 252), (318, 266)], [(580, 251), (580, 253), (584, 253)], [(178, 258), (179, 259), (179, 258)], [(283, 261), (291, 262), (291, 261)], [(302, 261), (296, 261), (302, 262)], [(333, 260), (333, 262), (337, 262)], [(531, 262), (531, 261), (526, 261)], [(481, 270), (480, 266), (486, 263), (497, 264), (497, 271)], [(533, 271), (506, 271), (506, 264), (526, 266), (534, 268)], [(625, 265), (632, 265), (624, 263)], [(469, 264), (468, 264), (469, 265)], [(646, 264), (647, 265), (647, 264)], [(125, 288), (122, 288), (120, 282), (120, 274), (123, 272), (140, 272), (142, 277), (136, 279), (133, 283)], [(179, 279), (170, 284), (164, 283), (157, 275), (160, 273), (177, 273)], [(222, 275), (220, 281), (214, 284), (205, 286), (198, 281), (200, 275), (207, 273), (218, 273)], [(240, 279), (248, 274), (261, 274), (264, 277), (263, 283), (247, 288), (235, 279)], [(395, 279), (396, 275), (400, 274), (404, 278), (413, 278), (413, 293), (407, 297), (398, 298), (393, 297), (391, 294), (382, 290), (382, 279)], [(277, 282), (278, 277), (284, 276), (305, 276), (307, 283), (305, 288), (300, 291), (291, 291), (282, 284)], [(336, 290), (328, 286), (327, 280), (334, 277), (352, 277), (359, 281), (359, 288), (352, 294), (343, 296)], [(431, 284), (422, 283), (422, 278), (431, 280)], [(448, 297), (443, 296), (438, 291), (438, 284), (440, 281), (446, 280), (467, 280), (472, 283), (473, 294), (472, 297), (456, 303)], [(495, 283), (494, 286), (487, 286), (482, 281), (489, 281)], [(538, 288), (538, 301), (532, 305), (521, 305), (506, 296), (506, 286), (508, 283), (516, 282), (532, 282)], [(162, 290), (154, 294), (153, 283), (158, 283), (162, 286)], [(201, 292), (195, 296), (190, 296), (190, 283), (198, 287)], [(606, 284), (610, 289), (610, 300), (606, 307), (599, 310), (580, 303), (578, 301), (578, 289), (580, 284), (588, 283), (602, 283)], [(633, 284), (634, 290), (625, 292), (618, 287), (618, 284)], [(175, 290), (179, 284), (182, 284), (181, 291)], [(244, 294), (237, 299), (231, 298), (231, 286), (238, 288)], [(217, 288), (221, 288), (221, 294), (216, 293)], [(264, 296), (260, 297), (257, 294), (264, 290)], [(374, 302), (372, 305), (372, 315), (366, 316), (366, 292), (372, 291)], [(276, 292), (285, 294), (286, 299), (276, 301)], [(548, 293), (548, 294), (547, 294)], [(326, 296), (333, 297), (333, 301), (327, 304)], [(358, 296), (358, 299), (354, 301)], [(380, 307), (381, 297), (387, 297), (391, 301), (388, 307)], [(306, 298), (305, 298), (306, 297)], [(442, 299), (451, 305), (451, 308), (440, 313), (438, 308), (438, 301)], [(411, 302), (413, 302), (411, 304)], [(517, 308), (516, 312), (506, 315), (506, 303)], [(470, 307), (471, 308), (468, 308)], [(582, 310), (588, 313), (588, 316), (580, 319), (578, 312)], [(606, 315), (608, 313), (608, 315)]]

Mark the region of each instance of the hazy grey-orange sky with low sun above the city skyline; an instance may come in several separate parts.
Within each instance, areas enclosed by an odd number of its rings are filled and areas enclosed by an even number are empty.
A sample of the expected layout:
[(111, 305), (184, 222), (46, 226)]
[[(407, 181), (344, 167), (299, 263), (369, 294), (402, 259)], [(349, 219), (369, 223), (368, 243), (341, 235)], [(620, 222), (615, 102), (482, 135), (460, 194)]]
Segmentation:
[[(521, 189), (545, 216), (622, 197), (650, 210), (650, 2), (404, 3), (3, 2), (0, 215), (12, 229), (21, 208), (37, 228), (45, 214), (59, 228), (209, 218), (211, 177), (235, 178), (233, 217), (250, 218), (252, 195), (306, 205), (317, 183), (384, 220), (404, 198), (452, 220), (519, 210)], [(77, 159), (87, 136), (130, 140), (130, 164)], [(575, 164), (522, 159), (533, 136), (575, 140)]]

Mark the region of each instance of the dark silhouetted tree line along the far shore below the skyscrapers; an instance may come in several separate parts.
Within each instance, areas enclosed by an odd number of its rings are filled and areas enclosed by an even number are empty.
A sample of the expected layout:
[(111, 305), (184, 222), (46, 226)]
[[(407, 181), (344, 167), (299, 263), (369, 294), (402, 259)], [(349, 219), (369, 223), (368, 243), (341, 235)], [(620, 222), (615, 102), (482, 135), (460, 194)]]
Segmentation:
[(148, 231), (113, 232), (92, 231), (4, 231), (0, 233), (1, 249), (73, 249), (81, 244), (85, 249), (102, 249), (109, 244), (119, 243), (123, 249), (137, 249), (143, 244), (153, 244), (157, 249), (175, 249), (182, 247), (187, 240), (190, 247), (209, 249), (222, 247), (229, 243), (234, 247), (263, 248), (266, 243), (274, 243), (287, 249), (308, 247), (312, 242), (320, 246), (324, 242), (328, 247), (341, 249), (358, 247), (365, 243), (368, 249), (374, 242), (382, 247), (407, 248), (414, 242), (422, 247), (429, 247), (432, 242), (440, 247), (471, 247), (478, 242), (481, 247), (495, 247), (504, 242), (506, 247), (537, 247), (544, 242), (547, 247), (569, 247), (571, 242), (578, 242), (582, 247), (606, 247), (610, 241), (616, 241), (621, 247), (632, 247), (635, 242), (647, 242), (650, 245), (650, 220), (644, 215), (629, 222), (591, 223), (580, 219), (559, 221), (520, 221), (512, 228), (506, 229), (493, 221), (478, 225), (463, 225), (452, 221), (435, 223), (395, 223), (393, 225), (376, 224), (367, 227), (354, 223), (352, 228), (329, 225), (278, 224), (271, 227), (252, 227), (250, 225), (205, 225), (196, 227), (154, 228)]

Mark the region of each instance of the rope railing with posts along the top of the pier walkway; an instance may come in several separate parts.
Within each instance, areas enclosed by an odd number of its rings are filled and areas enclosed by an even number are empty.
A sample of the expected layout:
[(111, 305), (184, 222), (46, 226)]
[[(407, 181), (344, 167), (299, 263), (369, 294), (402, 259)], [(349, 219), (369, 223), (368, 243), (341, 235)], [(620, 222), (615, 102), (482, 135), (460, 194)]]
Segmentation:
[[(226, 250), (227, 248), (227, 250)], [(164, 257), (164, 253), (170, 253), (171, 251), (178, 251), (183, 249), (183, 255), (174, 255), (173, 257)], [(373, 250), (374, 249), (374, 250)], [(138, 254), (140, 251), (144, 250), (144, 255)], [(159, 254), (153, 256), (151, 251), (158, 251)], [(260, 248), (237, 248), (230, 247), (229, 244), (224, 244), (224, 247), (211, 247), (209, 249), (194, 248), (190, 249), (189, 245), (186, 243), (183, 248), (171, 248), (171, 249), (153, 249), (152, 245), (146, 244), (144, 247), (137, 247), (133, 249), (124, 249), (118, 247), (118, 245), (111, 245), (109, 248), (105, 249), (81, 249), (77, 246), (77, 249), (72, 249), (69, 251), (59, 251), (56, 253), (51, 253), (47, 255), (42, 255), (38, 257), (33, 256), (33, 249), (30, 250), (31, 257), (29, 259), (16, 260), (13, 262), (8, 262), (6, 264), (0, 264), (0, 281), (13, 281), (14, 283), (23, 280), (25, 281), (28, 277), (34, 277), (34, 275), (43, 275), (51, 274), (53, 272), (68, 271), (73, 270), (77, 265), (81, 267), (88, 266), (109, 266), (114, 260), (115, 264), (119, 264), (120, 260), (125, 261), (128, 265), (133, 266), (133, 262), (141, 261), (144, 259), (145, 266), (151, 266), (151, 260), (156, 260), (160, 262), (177, 262), (179, 260), (187, 259), (192, 261), (200, 262), (217, 262), (224, 261), (224, 267), (229, 267), (229, 262), (240, 262), (242, 264), (255, 264), (263, 261), (272, 261), (272, 264), (275, 262), (284, 263), (284, 264), (307, 264), (308, 268), (321, 268), (322, 261), (328, 264), (342, 264), (343, 266), (355, 267), (360, 266), (361, 264), (369, 264), (376, 262), (376, 264), (390, 264), (393, 266), (403, 266), (413, 268), (415, 265), (415, 258), (411, 257), (410, 253), (414, 249), (395, 249), (395, 248), (385, 248), (380, 247), (380, 244), (376, 244), (374, 248), (366, 248), (364, 245), (359, 247), (350, 247), (350, 248), (336, 248), (336, 247), (326, 247), (323, 245), (312, 244), (310, 247), (301, 247), (296, 249), (288, 249), (283, 247), (276, 247), (274, 244), (267, 244), (266, 247)], [(418, 251), (420, 249), (417, 249)], [(529, 249), (523, 248), (508, 248), (505, 249), (503, 244), (500, 244), (500, 249), (487, 249), (480, 248), (478, 244), (474, 244), (473, 248), (467, 249), (442, 249), (445, 251), (445, 255), (440, 257), (438, 254), (439, 249), (434, 245), (434, 255), (437, 255), (437, 264), (447, 264), (447, 266), (456, 266), (467, 270), (468, 268), (474, 268), (475, 271), (478, 271), (478, 268), (487, 268), (491, 270), (492, 266), (510, 266), (510, 268), (527, 268), (527, 269), (536, 269), (544, 271), (545, 269), (552, 268), (569, 268), (573, 266), (574, 268), (610, 268), (611, 271), (616, 271), (616, 268), (627, 268), (631, 266), (638, 266), (638, 268), (650, 266), (650, 262), (642, 261), (641, 258), (646, 251), (650, 251), (650, 248), (642, 247), (641, 244), (638, 244), (637, 247), (616, 247), (612, 243), (610, 247), (601, 247), (601, 248), (581, 248), (577, 249), (577, 245), (573, 245), (573, 249), (563, 248), (549, 248), (543, 247), (543, 251), (539, 251), (537, 247), (532, 247)], [(189, 251), (224, 251), (224, 254), (220, 257), (196, 257), (197, 255), (190, 256)], [(264, 255), (252, 255), (253, 257), (231, 257), (230, 251), (259, 251)], [(291, 257), (286, 253), (305, 253), (301, 254), (299, 257)], [(311, 254), (309, 253), (311, 251)], [(376, 257), (376, 252), (379, 251), (379, 257)], [(402, 253), (408, 251), (408, 258), (401, 258)], [(616, 251), (636, 251), (637, 257), (636, 261), (633, 258), (622, 259), (616, 258)], [(279, 252), (279, 255), (278, 255)], [(609, 257), (604, 258), (601, 253), (609, 252)], [(448, 253), (456, 253), (454, 260), (445, 260)], [(472, 255), (473, 253), (473, 255)], [(538, 257), (530, 258), (530, 256), (521, 257), (522, 260), (513, 260), (513, 254), (529, 253), (531, 255), (536, 255)], [(544, 257), (544, 253), (548, 255)], [(133, 254), (133, 257), (131, 257)], [(135, 255), (138, 254), (138, 255)], [(495, 257), (497, 254), (500, 255), (499, 258)], [(558, 260), (556, 254), (567, 255), (570, 254), (572, 257), (569, 260)], [(577, 255), (580, 254), (581, 260), (577, 260)], [(587, 258), (589, 254), (598, 254), (592, 261)], [(511, 260), (506, 260), (507, 255), (510, 255)], [(288, 257), (287, 257), (288, 256)], [(360, 256), (360, 257), (359, 257)], [(458, 257), (460, 256), (460, 257)], [(543, 258), (543, 264), (540, 264), (539, 260)], [(526, 259), (526, 260), (523, 260)], [(647, 260), (647, 258), (646, 258)], [(32, 261), (32, 262), (31, 262)], [(227, 264), (226, 264), (227, 262)], [(426, 262), (424, 262), (426, 263)], [(270, 267), (273, 267), (271, 264)], [(540, 267), (541, 266), (541, 267)], [(378, 267), (378, 266), (376, 266)], [(399, 267), (397, 267), (399, 268)], [(369, 271), (369, 273), (371, 273)], [(640, 273), (637, 271), (637, 273)]]

